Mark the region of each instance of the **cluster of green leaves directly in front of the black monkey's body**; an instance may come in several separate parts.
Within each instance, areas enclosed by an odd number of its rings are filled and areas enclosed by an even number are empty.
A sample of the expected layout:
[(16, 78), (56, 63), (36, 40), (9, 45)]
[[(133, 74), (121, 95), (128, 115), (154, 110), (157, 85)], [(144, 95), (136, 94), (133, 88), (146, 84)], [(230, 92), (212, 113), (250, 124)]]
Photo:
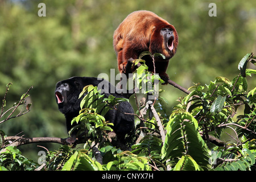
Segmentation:
[(72, 124), (76, 122), (79, 125), (73, 127), (71, 132), (79, 128), (80, 130), (77, 135), (85, 133), (84, 137), (86, 138), (98, 138), (102, 140), (102, 136), (104, 136), (102, 132), (106, 133), (105, 131), (112, 131), (110, 126), (113, 126), (113, 123), (105, 121), (104, 115), (109, 109), (115, 109), (115, 105), (119, 102), (127, 100), (125, 98), (115, 98), (112, 95), (108, 98), (104, 98), (104, 94), (100, 92), (97, 86), (93, 85), (85, 86), (82, 90), (80, 97), (85, 96), (80, 104), (80, 114), (71, 122)]

